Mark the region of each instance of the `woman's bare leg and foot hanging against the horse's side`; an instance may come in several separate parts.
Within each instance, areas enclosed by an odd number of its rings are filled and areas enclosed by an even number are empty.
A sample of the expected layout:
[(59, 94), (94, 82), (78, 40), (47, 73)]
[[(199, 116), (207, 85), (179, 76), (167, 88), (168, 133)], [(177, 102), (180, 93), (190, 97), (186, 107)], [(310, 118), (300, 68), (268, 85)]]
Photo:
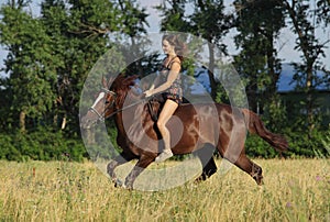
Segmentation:
[(173, 156), (173, 153), (170, 151), (170, 135), (166, 127), (166, 123), (168, 122), (177, 107), (178, 104), (175, 101), (167, 99), (160, 114), (157, 126), (163, 136), (165, 148), (163, 153), (156, 157), (155, 162), (164, 162), (165, 159)]

